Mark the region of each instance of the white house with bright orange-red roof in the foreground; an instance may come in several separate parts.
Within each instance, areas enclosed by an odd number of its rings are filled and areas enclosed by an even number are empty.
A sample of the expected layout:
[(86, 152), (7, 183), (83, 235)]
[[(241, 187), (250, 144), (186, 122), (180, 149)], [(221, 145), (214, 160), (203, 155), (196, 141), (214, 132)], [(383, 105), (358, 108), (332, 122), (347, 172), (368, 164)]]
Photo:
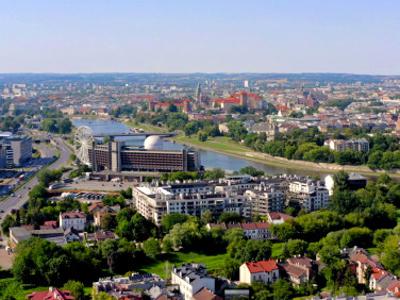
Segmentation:
[(239, 281), (241, 283), (252, 284), (258, 281), (269, 284), (278, 279), (279, 267), (273, 259), (246, 262), (239, 269)]

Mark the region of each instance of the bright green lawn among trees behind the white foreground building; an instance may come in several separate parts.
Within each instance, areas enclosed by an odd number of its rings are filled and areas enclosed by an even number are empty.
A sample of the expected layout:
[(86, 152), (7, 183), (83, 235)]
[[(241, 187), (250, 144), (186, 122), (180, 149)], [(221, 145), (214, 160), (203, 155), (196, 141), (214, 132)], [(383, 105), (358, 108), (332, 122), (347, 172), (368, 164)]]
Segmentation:
[(201, 263), (206, 266), (208, 272), (216, 273), (222, 269), (226, 257), (227, 254), (206, 255), (195, 252), (175, 252), (163, 255), (161, 259), (142, 267), (141, 271), (154, 273), (165, 278), (166, 273), (169, 273), (168, 271), (166, 272), (166, 270), (170, 270), (174, 265), (179, 266), (184, 263)]

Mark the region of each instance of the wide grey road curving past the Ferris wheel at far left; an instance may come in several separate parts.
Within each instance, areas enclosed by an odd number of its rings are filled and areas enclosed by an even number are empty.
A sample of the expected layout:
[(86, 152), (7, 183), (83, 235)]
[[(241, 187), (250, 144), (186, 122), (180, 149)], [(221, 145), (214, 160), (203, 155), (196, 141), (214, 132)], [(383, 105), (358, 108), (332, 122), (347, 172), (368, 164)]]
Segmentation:
[[(54, 161), (51, 165), (48, 166), (48, 169), (54, 170), (59, 169), (62, 165), (66, 165), (69, 160), (69, 155), (71, 153), (68, 146), (65, 144), (65, 141), (60, 137), (54, 137), (54, 142), (57, 145), (58, 150), (60, 151), (60, 157)], [(47, 155), (54, 155), (54, 153), (47, 153)], [(29, 197), (29, 191), (38, 184), (37, 174), (34, 175), (29, 182), (23, 185), (19, 190), (17, 190), (14, 195), (9, 196), (0, 202), (0, 217), (4, 218), (7, 214), (11, 212), (13, 209), (21, 208), (27, 201)]]

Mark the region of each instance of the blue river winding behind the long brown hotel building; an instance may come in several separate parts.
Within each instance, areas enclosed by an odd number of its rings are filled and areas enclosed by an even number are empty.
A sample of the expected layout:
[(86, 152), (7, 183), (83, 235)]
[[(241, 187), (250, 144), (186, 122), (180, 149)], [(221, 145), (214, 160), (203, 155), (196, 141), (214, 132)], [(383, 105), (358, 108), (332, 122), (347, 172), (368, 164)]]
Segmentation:
[[(75, 119), (72, 120), (74, 126), (88, 126), (96, 134), (121, 134), (130, 131), (130, 128), (123, 123), (112, 121), (112, 120), (89, 120), (89, 119)], [(144, 138), (142, 137), (119, 137), (118, 139), (124, 140), (131, 145), (140, 146), (143, 145)], [(163, 140), (162, 148), (164, 150), (180, 150), (184, 146), (178, 143), (173, 143), (168, 140)], [(317, 175), (316, 173), (310, 174), (310, 172), (294, 171), (285, 168), (277, 168), (268, 166), (265, 164), (253, 162), (244, 158), (238, 158), (229, 156), (222, 153), (217, 153), (210, 150), (196, 149), (200, 153), (201, 164), (206, 169), (221, 168), (227, 172), (239, 171), (241, 168), (246, 166), (253, 166), (259, 170), (263, 170), (266, 174), (301, 174), (301, 175)]]

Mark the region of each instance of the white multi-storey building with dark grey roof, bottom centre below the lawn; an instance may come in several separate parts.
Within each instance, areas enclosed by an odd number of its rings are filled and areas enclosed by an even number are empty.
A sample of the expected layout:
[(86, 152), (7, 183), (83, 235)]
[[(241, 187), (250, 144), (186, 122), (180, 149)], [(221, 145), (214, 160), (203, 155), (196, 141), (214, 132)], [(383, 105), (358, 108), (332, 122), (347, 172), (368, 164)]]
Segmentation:
[(206, 268), (201, 264), (185, 264), (173, 268), (171, 283), (179, 286), (184, 300), (192, 300), (203, 288), (215, 292), (215, 279), (208, 276)]

